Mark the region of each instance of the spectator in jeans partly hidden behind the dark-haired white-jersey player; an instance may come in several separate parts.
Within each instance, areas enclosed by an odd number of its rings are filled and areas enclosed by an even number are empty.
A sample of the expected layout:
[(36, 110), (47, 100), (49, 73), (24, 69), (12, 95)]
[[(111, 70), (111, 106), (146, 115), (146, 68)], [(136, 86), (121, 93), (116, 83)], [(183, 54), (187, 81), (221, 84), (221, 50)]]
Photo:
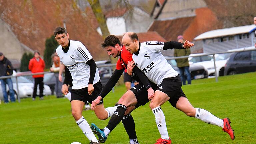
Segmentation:
[(52, 60), (53, 60), (53, 64), (52, 64), (52, 67), (50, 68), (50, 71), (54, 72), (54, 76), (56, 78), (54, 90), (57, 98), (64, 97), (61, 92), (62, 82), (59, 81), (60, 58), (58, 57), (57, 53), (52, 54)]

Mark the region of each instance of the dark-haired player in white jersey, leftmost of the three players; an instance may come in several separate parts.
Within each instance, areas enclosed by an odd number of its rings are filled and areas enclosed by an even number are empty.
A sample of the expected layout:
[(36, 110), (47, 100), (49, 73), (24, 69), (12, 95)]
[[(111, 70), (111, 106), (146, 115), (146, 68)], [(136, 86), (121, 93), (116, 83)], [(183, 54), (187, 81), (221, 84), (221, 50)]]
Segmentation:
[[(102, 90), (99, 71), (96, 64), (85, 46), (74, 40), (69, 40), (69, 35), (63, 27), (57, 27), (54, 31), (55, 39), (60, 44), (56, 53), (60, 57), (61, 65), (65, 65), (70, 74), (65, 71), (65, 80), (62, 85), (62, 92), (68, 93), (68, 82), (70, 76), (73, 78), (71, 91), (72, 115), (77, 125), (89, 139), (90, 144), (98, 144), (98, 140), (93, 134), (89, 124), (82, 116), (85, 103), (90, 103), (97, 98)], [(105, 120), (113, 114), (117, 106), (104, 109), (103, 99), (94, 110), (96, 116)]]

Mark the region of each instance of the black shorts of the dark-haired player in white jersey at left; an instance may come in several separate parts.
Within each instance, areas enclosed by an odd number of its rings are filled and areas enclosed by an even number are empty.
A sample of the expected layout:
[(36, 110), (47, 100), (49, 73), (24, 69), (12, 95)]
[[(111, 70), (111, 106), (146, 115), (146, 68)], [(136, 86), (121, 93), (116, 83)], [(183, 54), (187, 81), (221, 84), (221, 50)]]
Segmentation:
[[(92, 92), (92, 95), (88, 94), (88, 87), (71, 91), (71, 100), (79, 100), (83, 101), (84, 103), (87, 103), (87, 101), (91, 104), (92, 101), (94, 101), (102, 91), (102, 84), (101, 82), (97, 82), (93, 85), (94, 91)], [(101, 102), (99, 104), (103, 103), (103, 99), (101, 99)]]

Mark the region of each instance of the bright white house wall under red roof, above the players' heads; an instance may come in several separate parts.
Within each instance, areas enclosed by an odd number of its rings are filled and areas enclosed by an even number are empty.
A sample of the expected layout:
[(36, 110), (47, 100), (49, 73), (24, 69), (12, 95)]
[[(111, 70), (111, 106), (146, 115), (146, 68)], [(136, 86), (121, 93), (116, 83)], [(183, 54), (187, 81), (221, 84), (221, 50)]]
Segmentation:
[(123, 17), (110, 17), (106, 20), (111, 35), (123, 35), (126, 31), (125, 19)]

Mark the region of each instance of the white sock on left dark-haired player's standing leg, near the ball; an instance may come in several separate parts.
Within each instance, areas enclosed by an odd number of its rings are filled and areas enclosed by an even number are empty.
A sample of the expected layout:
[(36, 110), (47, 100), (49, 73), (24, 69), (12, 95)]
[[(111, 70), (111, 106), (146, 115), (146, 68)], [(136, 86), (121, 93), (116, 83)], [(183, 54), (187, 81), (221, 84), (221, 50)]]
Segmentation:
[(80, 129), (83, 131), (85, 136), (89, 139), (89, 141), (98, 142), (88, 122), (85, 120), (83, 116), (78, 121), (76, 121), (76, 123), (80, 127)]

